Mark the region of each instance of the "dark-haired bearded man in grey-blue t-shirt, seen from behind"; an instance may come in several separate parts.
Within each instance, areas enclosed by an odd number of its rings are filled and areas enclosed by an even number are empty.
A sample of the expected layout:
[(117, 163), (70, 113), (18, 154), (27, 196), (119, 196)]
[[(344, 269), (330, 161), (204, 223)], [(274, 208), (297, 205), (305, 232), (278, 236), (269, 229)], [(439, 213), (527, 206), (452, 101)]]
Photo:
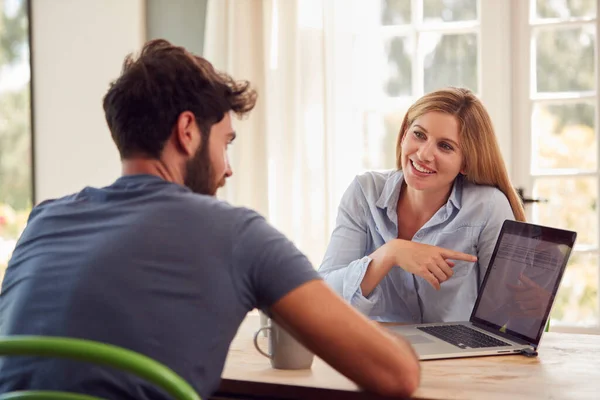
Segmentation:
[[(254, 308), (365, 389), (410, 395), (410, 345), (353, 310), (255, 212), (217, 200), (232, 175), (232, 114), (256, 93), (165, 40), (126, 58), (104, 97), (123, 176), (36, 206), (0, 294), (1, 335), (85, 338), (162, 362), (203, 398)], [(130, 375), (71, 361), (11, 357), (0, 393), (70, 390), (164, 399)]]

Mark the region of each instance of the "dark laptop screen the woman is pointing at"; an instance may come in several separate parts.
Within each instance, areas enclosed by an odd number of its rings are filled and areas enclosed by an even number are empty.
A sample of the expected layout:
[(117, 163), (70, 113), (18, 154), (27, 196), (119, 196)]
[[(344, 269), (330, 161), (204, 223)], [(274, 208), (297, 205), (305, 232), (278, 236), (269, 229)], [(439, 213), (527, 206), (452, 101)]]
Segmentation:
[(507, 220), (471, 321), (538, 344), (577, 234)]

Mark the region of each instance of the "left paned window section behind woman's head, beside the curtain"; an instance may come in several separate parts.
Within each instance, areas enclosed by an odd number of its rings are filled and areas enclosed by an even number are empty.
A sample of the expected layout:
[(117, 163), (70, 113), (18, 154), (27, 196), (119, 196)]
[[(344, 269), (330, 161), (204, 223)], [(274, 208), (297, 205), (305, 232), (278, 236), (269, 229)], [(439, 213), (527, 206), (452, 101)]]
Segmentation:
[[(381, 0), (356, 4), (356, 59), (364, 60), (364, 169), (395, 167), (408, 107), (446, 86), (480, 92), (477, 0)], [(366, 57), (365, 57), (366, 55)]]

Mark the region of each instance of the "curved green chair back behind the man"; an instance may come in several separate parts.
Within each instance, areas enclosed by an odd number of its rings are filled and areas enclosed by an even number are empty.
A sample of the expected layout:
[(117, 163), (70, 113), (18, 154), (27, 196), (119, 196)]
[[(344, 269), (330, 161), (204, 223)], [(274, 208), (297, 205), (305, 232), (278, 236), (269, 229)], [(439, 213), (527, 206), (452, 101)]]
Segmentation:
[[(90, 362), (133, 373), (178, 400), (200, 400), (194, 389), (173, 370), (131, 350), (91, 340), (51, 336), (0, 337), (0, 356), (59, 357)], [(0, 400), (100, 400), (83, 394), (28, 390), (5, 393)]]

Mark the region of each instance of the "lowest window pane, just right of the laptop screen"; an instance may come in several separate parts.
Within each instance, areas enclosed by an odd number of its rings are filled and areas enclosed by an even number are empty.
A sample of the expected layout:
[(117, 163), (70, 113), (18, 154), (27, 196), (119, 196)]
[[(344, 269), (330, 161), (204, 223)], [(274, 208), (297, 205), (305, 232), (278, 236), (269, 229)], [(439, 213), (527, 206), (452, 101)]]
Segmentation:
[(598, 325), (598, 254), (573, 253), (552, 308), (550, 328)]

